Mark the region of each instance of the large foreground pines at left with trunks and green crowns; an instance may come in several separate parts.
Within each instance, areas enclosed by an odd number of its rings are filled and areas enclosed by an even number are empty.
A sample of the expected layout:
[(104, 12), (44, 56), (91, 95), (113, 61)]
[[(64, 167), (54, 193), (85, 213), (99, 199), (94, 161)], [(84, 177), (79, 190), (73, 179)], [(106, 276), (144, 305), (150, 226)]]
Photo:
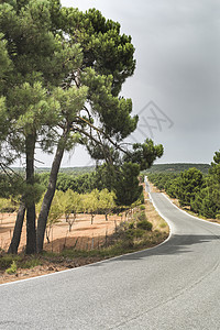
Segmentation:
[[(25, 158), (10, 252), (18, 251), (24, 215), (26, 253), (43, 250), (63, 155), (76, 144), (97, 162), (107, 162), (116, 185), (122, 177), (118, 190), (124, 189), (128, 176), (134, 184), (140, 169), (162, 156), (163, 146), (150, 140), (123, 144), (138, 124), (131, 99), (120, 96), (135, 68), (133, 54), (131, 36), (95, 9), (82, 13), (59, 0), (1, 1), (0, 166), (7, 172), (15, 158)], [(42, 190), (35, 178), (36, 148), (54, 152), (37, 227), (35, 205)]]

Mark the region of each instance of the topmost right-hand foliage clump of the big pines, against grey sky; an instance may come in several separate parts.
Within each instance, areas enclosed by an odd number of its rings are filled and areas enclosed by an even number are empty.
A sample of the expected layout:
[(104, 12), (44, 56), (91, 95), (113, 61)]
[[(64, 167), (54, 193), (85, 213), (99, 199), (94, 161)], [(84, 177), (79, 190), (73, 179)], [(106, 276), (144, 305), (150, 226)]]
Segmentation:
[(100, 75), (112, 75), (112, 94), (118, 95), (135, 67), (131, 36), (121, 35), (120, 24), (106, 20), (96, 9), (82, 13), (74, 8), (63, 8), (62, 13), (61, 28), (74, 42), (81, 44), (84, 66), (94, 68)]

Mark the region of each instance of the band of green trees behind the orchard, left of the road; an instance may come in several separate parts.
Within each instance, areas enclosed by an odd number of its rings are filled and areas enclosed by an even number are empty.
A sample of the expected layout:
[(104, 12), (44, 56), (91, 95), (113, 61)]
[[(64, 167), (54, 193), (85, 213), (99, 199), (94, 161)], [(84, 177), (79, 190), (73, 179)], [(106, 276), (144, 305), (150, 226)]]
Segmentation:
[[(112, 170), (107, 164), (99, 166), (91, 173), (72, 175), (59, 173), (56, 182), (56, 189), (67, 191), (72, 189), (78, 194), (91, 193), (94, 189), (113, 190), (118, 206), (130, 206), (138, 199), (143, 199), (143, 189), (139, 185), (141, 174), (139, 166), (134, 164), (123, 164), (120, 170)], [(46, 187), (48, 184), (48, 173), (38, 175), (38, 183)]]

